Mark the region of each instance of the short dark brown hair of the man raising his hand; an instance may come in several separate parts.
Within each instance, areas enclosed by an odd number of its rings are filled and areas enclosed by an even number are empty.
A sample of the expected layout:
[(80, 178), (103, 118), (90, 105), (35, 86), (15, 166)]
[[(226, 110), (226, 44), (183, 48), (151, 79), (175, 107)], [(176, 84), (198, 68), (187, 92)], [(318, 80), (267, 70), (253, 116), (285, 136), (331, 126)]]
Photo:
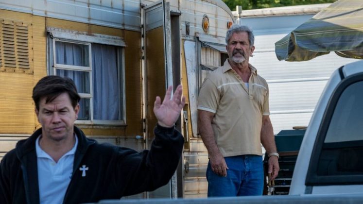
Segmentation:
[(52, 102), (62, 93), (68, 93), (73, 108), (76, 107), (81, 99), (73, 80), (54, 75), (43, 77), (33, 88), (32, 98), (35, 102), (36, 110), (39, 110), (39, 102), (43, 97), (46, 97), (45, 102), (48, 103)]

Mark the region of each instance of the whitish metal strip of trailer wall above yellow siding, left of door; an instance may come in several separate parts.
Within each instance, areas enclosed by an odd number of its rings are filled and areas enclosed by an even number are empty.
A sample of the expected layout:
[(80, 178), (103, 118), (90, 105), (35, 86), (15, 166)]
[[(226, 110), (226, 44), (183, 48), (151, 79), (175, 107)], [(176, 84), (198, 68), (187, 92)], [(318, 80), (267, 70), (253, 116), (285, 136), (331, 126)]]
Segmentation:
[(0, 0), (0, 9), (140, 31), (139, 0)]

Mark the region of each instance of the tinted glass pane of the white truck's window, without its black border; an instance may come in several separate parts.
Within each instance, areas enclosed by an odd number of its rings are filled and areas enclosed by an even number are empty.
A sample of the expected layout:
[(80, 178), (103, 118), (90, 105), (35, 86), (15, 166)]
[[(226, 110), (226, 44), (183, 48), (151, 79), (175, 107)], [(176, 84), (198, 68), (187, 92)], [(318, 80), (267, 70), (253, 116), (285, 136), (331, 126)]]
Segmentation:
[(363, 174), (363, 82), (346, 87), (331, 117), (317, 175)]

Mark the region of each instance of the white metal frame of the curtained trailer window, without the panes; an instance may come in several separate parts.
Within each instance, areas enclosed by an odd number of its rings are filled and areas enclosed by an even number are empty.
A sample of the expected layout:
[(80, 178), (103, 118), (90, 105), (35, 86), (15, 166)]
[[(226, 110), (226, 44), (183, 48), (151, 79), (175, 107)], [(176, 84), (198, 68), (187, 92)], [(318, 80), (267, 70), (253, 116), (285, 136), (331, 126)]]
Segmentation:
[[(54, 28), (51, 28), (52, 30)], [(57, 32), (63, 31), (62, 29), (56, 29)], [(69, 32), (64, 30), (65, 35)], [(78, 35), (82, 35), (80, 37), (81, 40), (73, 39), (73, 35), (69, 35), (69, 37), (54, 37), (52, 36), (52, 33), (50, 31), (47, 32), (47, 61), (48, 61), (48, 68), (47, 68), (47, 75), (56, 75), (56, 70), (72, 70), (72, 71), (86, 71), (89, 74), (89, 90), (90, 93), (78, 93), (81, 98), (89, 99), (89, 106), (90, 106), (90, 119), (89, 120), (76, 120), (75, 124), (85, 124), (85, 125), (126, 125), (126, 100), (125, 100), (125, 60), (124, 60), (124, 45), (120, 44), (113, 44), (109, 41), (104, 41), (102, 38), (105, 37), (113, 37), (116, 38), (116, 36), (109, 36), (109, 35), (102, 35), (102, 34), (95, 34), (96, 36), (93, 36), (90, 41), (83, 41), (84, 39), (89, 39), (86, 36), (86, 34), (81, 34), (81, 32), (77, 33)], [(92, 40), (95, 39), (95, 41), (92, 42)], [(121, 39), (121, 38), (120, 38)], [(114, 39), (112, 39), (114, 40)], [(82, 67), (82, 66), (72, 66), (72, 65), (64, 65), (64, 64), (57, 64), (56, 63), (56, 49), (55, 49), (55, 42), (67, 42), (67, 43), (73, 43), (73, 44), (80, 44), (80, 45), (87, 45), (88, 46), (88, 60), (89, 60), (89, 66), (88, 67)], [(104, 43), (106, 42), (106, 43)], [(119, 116), (120, 120), (100, 120), (100, 119), (94, 119), (93, 115), (93, 78), (92, 78), (92, 44), (102, 44), (102, 45), (111, 45), (117, 47), (117, 68), (118, 68), (118, 80), (119, 80), (119, 87), (118, 87), (118, 95), (120, 99), (119, 104)], [(124, 44), (123, 40), (121, 44)]]

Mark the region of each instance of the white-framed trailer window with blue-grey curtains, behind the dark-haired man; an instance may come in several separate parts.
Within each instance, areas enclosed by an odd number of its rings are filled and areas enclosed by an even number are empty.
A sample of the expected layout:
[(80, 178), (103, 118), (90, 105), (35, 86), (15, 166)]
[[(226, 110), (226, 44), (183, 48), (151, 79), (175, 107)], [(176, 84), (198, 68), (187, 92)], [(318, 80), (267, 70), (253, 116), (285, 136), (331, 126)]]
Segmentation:
[(48, 38), (49, 74), (71, 78), (77, 86), (77, 123), (124, 124), (122, 47)]

